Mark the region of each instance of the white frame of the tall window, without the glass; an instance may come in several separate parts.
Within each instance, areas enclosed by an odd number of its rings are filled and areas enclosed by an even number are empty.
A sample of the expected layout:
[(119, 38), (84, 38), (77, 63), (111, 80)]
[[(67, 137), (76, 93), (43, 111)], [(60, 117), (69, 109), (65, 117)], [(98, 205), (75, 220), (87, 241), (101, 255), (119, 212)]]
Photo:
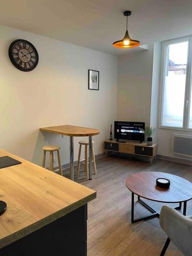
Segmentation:
[[(165, 126), (162, 125), (162, 115), (163, 115), (163, 95), (164, 95), (164, 74), (166, 65), (166, 51), (168, 45), (178, 44), (179, 42), (188, 41), (188, 52), (187, 52), (187, 68), (186, 68), (186, 80), (185, 80), (185, 97), (184, 97), (184, 107), (183, 107), (183, 126)], [(191, 84), (191, 66), (192, 66), (192, 36), (185, 36), (180, 38), (175, 38), (171, 40), (166, 40), (162, 42), (162, 55), (161, 55), (161, 73), (160, 73), (160, 102), (159, 102), (159, 128), (168, 130), (179, 130), (179, 131), (192, 131), (192, 127), (188, 128), (189, 121), (189, 110), (190, 110), (190, 91), (192, 90)], [(192, 104), (192, 101), (191, 101)]]

